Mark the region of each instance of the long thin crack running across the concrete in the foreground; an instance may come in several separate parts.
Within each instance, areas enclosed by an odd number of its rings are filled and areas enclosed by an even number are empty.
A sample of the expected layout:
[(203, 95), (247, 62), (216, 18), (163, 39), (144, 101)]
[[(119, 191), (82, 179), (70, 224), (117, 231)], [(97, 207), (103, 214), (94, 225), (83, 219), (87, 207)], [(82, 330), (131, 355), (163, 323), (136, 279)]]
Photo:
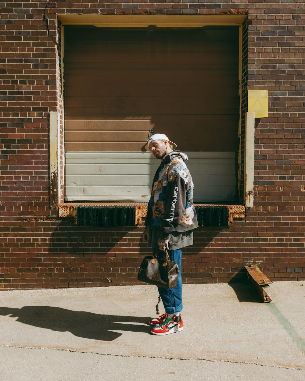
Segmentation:
[[(33, 347), (33, 346), (19, 346), (19, 345), (10, 345), (10, 344), (0, 344), (0, 347), (9, 347), (9, 348), (21, 348), (21, 349), (46, 349), (49, 351), (66, 351), (71, 353), (83, 353), (83, 354), (93, 354), (100, 355), (100, 359), (102, 356), (116, 356), (116, 357), (129, 357), (129, 358), (148, 358), (148, 359), (164, 359), (164, 360), (201, 360), (201, 361), (209, 361), (209, 362), (228, 362), (233, 364), (246, 364), (246, 365), (258, 365), (260, 367), (268, 367), (268, 368), (281, 368), (281, 369), (289, 369), (289, 370), (305, 370), (300, 367), (286, 367), (285, 365), (268, 365), (263, 363), (255, 363), (248, 361), (233, 361), (233, 360), (210, 360), (210, 359), (201, 359), (200, 357), (165, 357), (165, 356), (149, 356), (149, 355), (122, 355), (122, 354), (113, 354), (113, 353), (100, 353), (100, 352), (86, 352), (86, 351), (77, 351), (75, 349), (68, 348), (50, 348), (50, 347)], [(98, 361), (100, 361), (100, 359)]]

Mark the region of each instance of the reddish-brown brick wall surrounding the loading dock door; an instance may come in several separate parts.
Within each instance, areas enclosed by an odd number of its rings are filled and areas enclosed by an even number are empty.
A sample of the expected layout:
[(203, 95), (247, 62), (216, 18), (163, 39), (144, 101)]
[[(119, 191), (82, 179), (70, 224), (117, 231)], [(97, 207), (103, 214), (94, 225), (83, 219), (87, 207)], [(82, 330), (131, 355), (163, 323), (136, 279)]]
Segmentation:
[[(227, 282), (253, 261), (271, 279), (305, 279), (303, 2), (0, 4), (0, 289), (129, 285), (137, 282), (141, 257), (149, 252), (141, 240), (143, 227), (76, 227), (59, 220), (51, 207), (49, 112), (58, 111), (63, 120), (56, 13), (248, 14), (242, 94), (248, 89), (269, 94), (269, 117), (255, 125), (254, 207), (228, 229), (197, 229), (194, 247), (183, 255), (183, 277), (188, 283)], [(246, 107), (244, 97), (243, 114)], [(244, 115), (241, 144), (243, 121)]]

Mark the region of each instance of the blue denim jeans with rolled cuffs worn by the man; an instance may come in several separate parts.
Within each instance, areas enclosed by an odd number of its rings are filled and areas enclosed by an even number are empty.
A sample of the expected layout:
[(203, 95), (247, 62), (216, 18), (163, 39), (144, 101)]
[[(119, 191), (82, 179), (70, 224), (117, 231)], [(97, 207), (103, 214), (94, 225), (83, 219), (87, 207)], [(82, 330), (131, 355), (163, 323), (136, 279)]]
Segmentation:
[[(154, 255), (158, 249), (152, 248), (152, 254)], [(169, 258), (171, 261), (175, 261), (180, 269), (177, 285), (172, 288), (158, 287), (159, 294), (161, 296), (165, 312), (168, 314), (174, 314), (175, 312), (182, 311), (182, 271), (181, 271), (181, 249), (168, 250)], [(164, 251), (159, 251), (158, 256), (165, 258)]]

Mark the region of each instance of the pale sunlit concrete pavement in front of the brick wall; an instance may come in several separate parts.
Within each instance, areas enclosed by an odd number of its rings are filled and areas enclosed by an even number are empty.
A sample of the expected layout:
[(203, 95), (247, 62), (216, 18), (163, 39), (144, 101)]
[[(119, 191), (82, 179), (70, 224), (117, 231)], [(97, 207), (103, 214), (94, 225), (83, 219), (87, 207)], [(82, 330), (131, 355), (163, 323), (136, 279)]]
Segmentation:
[(147, 324), (154, 286), (2, 291), (0, 381), (303, 381), (305, 282), (269, 290), (184, 285), (185, 329), (168, 336)]

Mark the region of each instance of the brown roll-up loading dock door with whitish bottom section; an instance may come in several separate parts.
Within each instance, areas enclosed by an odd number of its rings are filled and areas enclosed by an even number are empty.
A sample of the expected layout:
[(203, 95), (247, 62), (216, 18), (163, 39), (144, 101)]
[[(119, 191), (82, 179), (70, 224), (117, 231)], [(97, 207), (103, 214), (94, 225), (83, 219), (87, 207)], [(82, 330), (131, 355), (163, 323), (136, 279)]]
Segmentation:
[(149, 200), (149, 130), (190, 158), (195, 202), (233, 202), (238, 28), (64, 29), (65, 199)]

